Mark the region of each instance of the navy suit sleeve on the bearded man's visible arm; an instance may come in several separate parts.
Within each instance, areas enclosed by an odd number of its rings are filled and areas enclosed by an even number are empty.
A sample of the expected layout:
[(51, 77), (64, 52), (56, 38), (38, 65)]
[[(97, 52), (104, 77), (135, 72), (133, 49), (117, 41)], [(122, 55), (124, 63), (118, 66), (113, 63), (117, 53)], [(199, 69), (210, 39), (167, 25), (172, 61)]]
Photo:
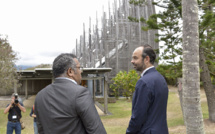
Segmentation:
[(151, 103), (152, 93), (146, 84), (139, 80), (135, 87), (132, 103), (132, 115), (126, 134), (135, 134), (147, 120), (147, 111)]

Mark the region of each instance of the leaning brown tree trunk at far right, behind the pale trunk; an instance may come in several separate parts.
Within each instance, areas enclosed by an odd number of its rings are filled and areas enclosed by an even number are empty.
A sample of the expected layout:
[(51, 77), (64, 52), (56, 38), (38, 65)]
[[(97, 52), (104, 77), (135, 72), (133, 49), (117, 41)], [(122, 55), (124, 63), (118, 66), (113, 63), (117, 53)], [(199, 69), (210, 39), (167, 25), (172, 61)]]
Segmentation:
[(215, 122), (215, 94), (211, 82), (210, 72), (205, 62), (204, 49), (200, 47), (200, 67), (202, 69), (200, 79), (203, 81), (203, 86), (208, 103), (209, 120)]

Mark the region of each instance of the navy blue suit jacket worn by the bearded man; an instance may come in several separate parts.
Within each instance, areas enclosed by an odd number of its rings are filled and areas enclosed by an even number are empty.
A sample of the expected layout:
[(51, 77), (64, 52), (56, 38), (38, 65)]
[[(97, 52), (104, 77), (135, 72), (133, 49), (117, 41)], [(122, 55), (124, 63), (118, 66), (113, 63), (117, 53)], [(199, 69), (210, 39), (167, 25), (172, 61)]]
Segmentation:
[(138, 80), (132, 100), (127, 134), (168, 134), (166, 109), (168, 87), (163, 76), (151, 68)]

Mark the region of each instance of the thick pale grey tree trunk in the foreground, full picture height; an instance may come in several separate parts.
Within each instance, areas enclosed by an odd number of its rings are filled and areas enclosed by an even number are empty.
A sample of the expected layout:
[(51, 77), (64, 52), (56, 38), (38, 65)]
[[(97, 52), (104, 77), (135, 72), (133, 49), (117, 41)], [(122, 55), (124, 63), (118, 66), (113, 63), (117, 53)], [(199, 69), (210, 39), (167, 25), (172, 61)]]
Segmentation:
[(199, 29), (197, 0), (182, 0), (183, 111), (187, 134), (204, 134), (200, 103)]

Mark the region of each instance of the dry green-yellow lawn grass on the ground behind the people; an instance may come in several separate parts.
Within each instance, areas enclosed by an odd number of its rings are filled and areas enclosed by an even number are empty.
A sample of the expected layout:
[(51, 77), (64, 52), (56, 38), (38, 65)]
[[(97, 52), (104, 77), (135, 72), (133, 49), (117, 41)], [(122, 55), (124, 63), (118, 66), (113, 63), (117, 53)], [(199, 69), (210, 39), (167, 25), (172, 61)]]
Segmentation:
[[(201, 97), (205, 98), (204, 95), (201, 95)], [(202, 101), (201, 106), (203, 117), (204, 119), (207, 119), (207, 101)], [(33, 134), (33, 119), (29, 116), (31, 108), (27, 107), (26, 110), (26, 113), (23, 114), (23, 120), (26, 124), (26, 128), (22, 131), (22, 134)], [(112, 113), (112, 115), (101, 116), (101, 120), (107, 133), (125, 133), (131, 116), (131, 101), (128, 101), (126, 99), (119, 99), (116, 103), (108, 104), (108, 110)], [(4, 108), (1, 108), (0, 112), (2, 114), (0, 114), (0, 134), (6, 133), (7, 115), (3, 114), (3, 111)], [(167, 122), (169, 129), (184, 125), (180, 101), (177, 92), (169, 92), (167, 105)]]

